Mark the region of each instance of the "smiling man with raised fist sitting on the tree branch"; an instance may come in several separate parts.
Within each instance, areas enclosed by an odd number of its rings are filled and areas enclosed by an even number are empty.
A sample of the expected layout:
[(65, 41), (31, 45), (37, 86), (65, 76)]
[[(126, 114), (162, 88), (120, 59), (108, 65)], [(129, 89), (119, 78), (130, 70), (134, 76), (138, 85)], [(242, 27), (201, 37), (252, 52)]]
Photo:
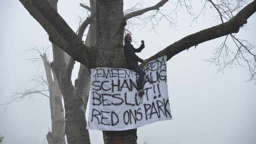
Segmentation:
[(139, 66), (138, 62), (146, 64), (148, 63), (148, 59), (143, 60), (135, 54), (136, 52), (141, 52), (141, 50), (145, 47), (144, 40), (141, 41), (141, 45), (138, 49), (135, 49), (131, 44), (131, 42), (132, 42), (131, 34), (127, 33), (124, 36), (124, 56), (125, 56), (126, 63), (128, 65), (128, 69), (133, 70), (139, 74), (139, 80), (137, 84), (138, 95), (142, 96), (144, 94), (142, 82), (143, 82), (145, 72)]

